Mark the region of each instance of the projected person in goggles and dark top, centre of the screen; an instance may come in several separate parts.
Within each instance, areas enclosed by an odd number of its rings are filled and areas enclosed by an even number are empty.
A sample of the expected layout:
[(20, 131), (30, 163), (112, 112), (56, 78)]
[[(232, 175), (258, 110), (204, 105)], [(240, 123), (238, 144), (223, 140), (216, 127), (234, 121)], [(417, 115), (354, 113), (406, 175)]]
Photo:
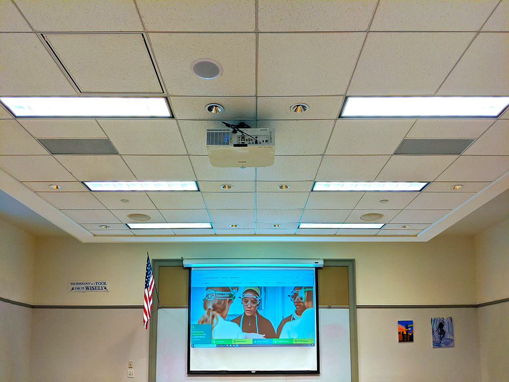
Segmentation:
[(263, 338), (276, 338), (276, 332), (270, 321), (258, 312), (261, 304), (260, 288), (245, 287), (240, 296), (244, 313), (234, 318), (244, 333), (258, 333)]

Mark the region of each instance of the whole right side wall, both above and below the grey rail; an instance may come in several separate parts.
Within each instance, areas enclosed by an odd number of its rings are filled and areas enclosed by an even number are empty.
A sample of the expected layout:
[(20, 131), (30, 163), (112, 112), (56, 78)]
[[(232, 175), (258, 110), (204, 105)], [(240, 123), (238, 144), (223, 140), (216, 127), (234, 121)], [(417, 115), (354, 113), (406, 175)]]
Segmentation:
[[(509, 219), (474, 237), (477, 301), (509, 298)], [(509, 302), (480, 307), (480, 365), (483, 382), (509, 380)]]

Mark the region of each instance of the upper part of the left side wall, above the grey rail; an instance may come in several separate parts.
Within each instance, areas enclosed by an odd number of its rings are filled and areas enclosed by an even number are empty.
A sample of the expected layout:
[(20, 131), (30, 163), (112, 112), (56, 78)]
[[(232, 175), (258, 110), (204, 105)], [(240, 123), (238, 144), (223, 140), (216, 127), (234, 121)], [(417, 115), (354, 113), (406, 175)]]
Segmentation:
[(33, 304), (35, 237), (0, 220), (0, 297)]

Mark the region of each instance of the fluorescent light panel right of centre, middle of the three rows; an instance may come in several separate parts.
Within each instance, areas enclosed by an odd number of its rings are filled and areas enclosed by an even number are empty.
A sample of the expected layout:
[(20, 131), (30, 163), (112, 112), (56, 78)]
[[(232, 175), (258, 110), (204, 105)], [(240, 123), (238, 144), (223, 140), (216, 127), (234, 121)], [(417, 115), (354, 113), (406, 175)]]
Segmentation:
[(422, 191), (430, 182), (315, 182), (313, 191)]

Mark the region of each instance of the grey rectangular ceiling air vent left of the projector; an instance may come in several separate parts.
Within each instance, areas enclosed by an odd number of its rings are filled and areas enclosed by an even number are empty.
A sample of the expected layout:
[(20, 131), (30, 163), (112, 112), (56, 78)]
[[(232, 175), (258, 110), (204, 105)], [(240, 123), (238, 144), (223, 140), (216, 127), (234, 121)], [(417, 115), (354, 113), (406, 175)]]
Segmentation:
[(118, 151), (109, 139), (39, 139), (51, 154), (113, 155)]

